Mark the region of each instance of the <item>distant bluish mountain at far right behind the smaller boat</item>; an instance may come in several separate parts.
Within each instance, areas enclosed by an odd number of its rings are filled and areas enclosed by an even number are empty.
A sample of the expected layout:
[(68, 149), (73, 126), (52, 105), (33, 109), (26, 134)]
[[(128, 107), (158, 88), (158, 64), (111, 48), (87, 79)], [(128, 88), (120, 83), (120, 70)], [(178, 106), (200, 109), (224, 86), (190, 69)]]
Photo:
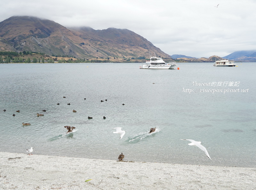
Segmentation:
[(256, 50), (235, 51), (223, 58), (235, 61), (256, 62)]

